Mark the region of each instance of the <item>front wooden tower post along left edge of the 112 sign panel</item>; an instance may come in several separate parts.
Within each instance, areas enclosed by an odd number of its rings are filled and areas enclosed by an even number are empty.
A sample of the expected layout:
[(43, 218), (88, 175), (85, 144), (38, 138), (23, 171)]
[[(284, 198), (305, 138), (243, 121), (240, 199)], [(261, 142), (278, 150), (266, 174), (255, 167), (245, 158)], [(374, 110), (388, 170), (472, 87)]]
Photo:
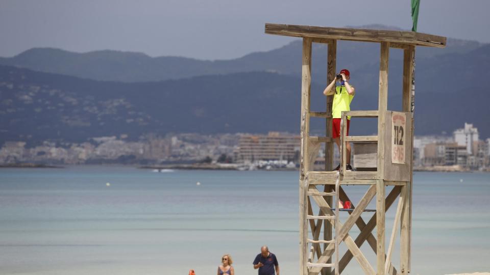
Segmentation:
[(384, 186), (384, 143), (385, 121), (388, 105), (388, 59), (389, 42), (381, 42), (379, 61), (379, 98), (378, 98), (378, 172), (376, 181), (376, 232), (377, 232), (377, 265), (378, 275), (384, 275), (385, 265), (385, 186)]

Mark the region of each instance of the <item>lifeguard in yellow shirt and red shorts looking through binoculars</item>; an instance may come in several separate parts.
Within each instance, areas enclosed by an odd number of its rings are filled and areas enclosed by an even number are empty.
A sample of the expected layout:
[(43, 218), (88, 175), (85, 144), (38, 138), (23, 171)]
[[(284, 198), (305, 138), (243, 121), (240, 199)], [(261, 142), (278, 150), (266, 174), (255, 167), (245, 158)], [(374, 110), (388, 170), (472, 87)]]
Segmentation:
[[(337, 144), (337, 148), (340, 154), (340, 118), (342, 111), (351, 111), (351, 102), (356, 94), (353, 86), (349, 84), (351, 79), (351, 73), (347, 69), (342, 69), (333, 79), (333, 81), (325, 88), (323, 94), (326, 96), (333, 95), (332, 104), (332, 139)], [(340, 86), (337, 86), (337, 81)], [(347, 135), (349, 135), (349, 126), (351, 122), (351, 117), (347, 117)], [(351, 144), (347, 143), (347, 164), (346, 169), (352, 171), (351, 166)], [(335, 170), (340, 169), (340, 164), (335, 168)]]

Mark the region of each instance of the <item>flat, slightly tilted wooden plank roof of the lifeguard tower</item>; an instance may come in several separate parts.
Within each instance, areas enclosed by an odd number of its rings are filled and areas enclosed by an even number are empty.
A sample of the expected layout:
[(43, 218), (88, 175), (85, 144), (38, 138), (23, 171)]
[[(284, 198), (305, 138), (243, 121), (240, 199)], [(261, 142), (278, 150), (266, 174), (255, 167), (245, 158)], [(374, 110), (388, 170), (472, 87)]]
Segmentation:
[(336, 39), (364, 42), (394, 42), (428, 47), (446, 47), (446, 37), (407, 32), (351, 28), (330, 28), (325, 26), (306, 26), (265, 23), (265, 33), (294, 37)]

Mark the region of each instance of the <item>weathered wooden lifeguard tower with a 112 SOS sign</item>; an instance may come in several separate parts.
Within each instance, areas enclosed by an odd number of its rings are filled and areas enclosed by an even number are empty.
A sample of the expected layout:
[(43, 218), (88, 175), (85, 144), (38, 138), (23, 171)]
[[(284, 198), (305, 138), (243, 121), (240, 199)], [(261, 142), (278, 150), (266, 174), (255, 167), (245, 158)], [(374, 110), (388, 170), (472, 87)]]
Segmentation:
[[(300, 170), (300, 274), (339, 274), (355, 258), (365, 274), (407, 274), (410, 272), (412, 145), (414, 106), (415, 46), (446, 46), (446, 38), (416, 32), (327, 28), (321, 26), (265, 24), (265, 33), (303, 38), (301, 85), (301, 170)], [(327, 97), (325, 112), (310, 110), (311, 46), (328, 45), (327, 83), (335, 78), (337, 40), (375, 42), (381, 44), (378, 109), (342, 112), (340, 171), (332, 171), (331, 107), (333, 96)], [(390, 48), (403, 49), (402, 112), (388, 111), (388, 57)], [(361, 91), (360, 88), (358, 88)], [(346, 136), (346, 117), (377, 118), (378, 134)], [(310, 136), (310, 117), (326, 119), (325, 136)], [(374, 129), (373, 129), (374, 130)], [(354, 144), (354, 168), (346, 171), (346, 143)], [(312, 171), (320, 143), (326, 143), (325, 171)], [(362, 170), (362, 171), (361, 171)], [(367, 185), (365, 195), (352, 209), (339, 209), (340, 201), (350, 201), (342, 185)], [(387, 186), (393, 189), (385, 196)], [(318, 188), (321, 188), (320, 190)], [(376, 210), (364, 222), (361, 214), (376, 196)], [(333, 199), (335, 198), (335, 200)], [(398, 199), (398, 207), (388, 248), (385, 246), (385, 213)], [(313, 214), (312, 203), (318, 215)], [(349, 215), (344, 223), (339, 213)], [(323, 225), (323, 238), (321, 238)], [(356, 225), (360, 233), (349, 235)], [(391, 255), (400, 227), (400, 267), (391, 263)], [(376, 228), (376, 237), (372, 231)], [(335, 234), (333, 234), (335, 233)], [(373, 267), (360, 250), (367, 241), (376, 253)], [(339, 257), (339, 244), (347, 252)], [(322, 247), (323, 245), (323, 247)]]

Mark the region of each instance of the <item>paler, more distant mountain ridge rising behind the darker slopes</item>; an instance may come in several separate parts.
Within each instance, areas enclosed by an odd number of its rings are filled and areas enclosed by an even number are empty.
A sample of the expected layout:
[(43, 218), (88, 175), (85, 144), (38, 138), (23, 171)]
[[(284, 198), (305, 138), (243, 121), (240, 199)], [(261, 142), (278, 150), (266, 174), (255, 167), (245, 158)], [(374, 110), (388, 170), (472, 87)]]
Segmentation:
[[(382, 25), (361, 26), (363, 29), (401, 30)], [(420, 59), (445, 54), (465, 54), (481, 47), (476, 41), (448, 39), (443, 49), (418, 47)], [(356, 71), (366, 65), (379, 63), (379, 44), (339, 41), (337, 67)], [(11, 58), (0, 58), (0, 64), (35, 71), (66, 74), (103, 81), (145, 82), (188, 78), (200, 75), (268, 71), (301, 75), (301, 40), (266, 52), (253, 52), (232, 60), (197, 60), (183, 57), (149, 57), (139, 52), (100, 50), (86, 53), (56, 48), (32, 48)], [(327, 46), (314, 43), (312, 49), (313, 80), (325, 81)], [(392, 60), (403, 59), (401, 50), (392, 50)], [(315, 80), (316, 79), (316, 80)]]

